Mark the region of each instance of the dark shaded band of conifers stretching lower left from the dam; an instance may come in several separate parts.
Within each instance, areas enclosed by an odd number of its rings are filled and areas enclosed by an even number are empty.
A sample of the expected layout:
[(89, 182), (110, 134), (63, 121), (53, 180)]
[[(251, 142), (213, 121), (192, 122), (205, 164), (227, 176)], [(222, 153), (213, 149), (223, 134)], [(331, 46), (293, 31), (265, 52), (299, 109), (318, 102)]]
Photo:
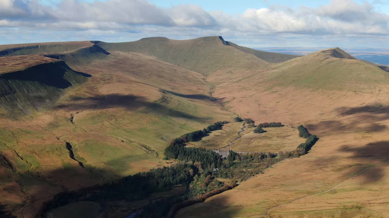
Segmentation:
[(96, 185), (77, 191), (56, 194), (42, 207), (42, 213), (77, 201), (137, 201), (152, 192), (171, 189), (175, 185), (187, 185), (198, 169), (193, 164), (175, 164), (171, 167), (152, 169), (147, 172), (126, 176), (120, 180)]

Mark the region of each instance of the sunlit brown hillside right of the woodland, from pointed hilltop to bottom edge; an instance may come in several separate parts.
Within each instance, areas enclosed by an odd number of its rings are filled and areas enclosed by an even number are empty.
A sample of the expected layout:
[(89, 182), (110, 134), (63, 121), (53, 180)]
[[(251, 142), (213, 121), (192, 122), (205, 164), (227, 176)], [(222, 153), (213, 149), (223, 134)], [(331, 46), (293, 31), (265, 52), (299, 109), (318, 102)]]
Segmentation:
[(303, 124), (319, 141), (308, 154), (184, 208), (176, 218), (388, 217), (389, 74), (339, 48), (271, 67), (217, 85), (214, 97), (256, 123)]

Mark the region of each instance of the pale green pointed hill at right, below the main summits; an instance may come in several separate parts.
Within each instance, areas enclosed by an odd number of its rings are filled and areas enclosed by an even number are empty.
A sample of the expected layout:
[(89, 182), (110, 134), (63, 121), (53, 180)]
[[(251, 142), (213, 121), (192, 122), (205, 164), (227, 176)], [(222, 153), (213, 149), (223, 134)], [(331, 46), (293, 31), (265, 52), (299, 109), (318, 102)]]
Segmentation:
[(357, 60), (340, 48), (331, 48), (277, 65), (266, 79), (277, 85), (325, 90), (371, 92), (389, 82), (389, 74)]

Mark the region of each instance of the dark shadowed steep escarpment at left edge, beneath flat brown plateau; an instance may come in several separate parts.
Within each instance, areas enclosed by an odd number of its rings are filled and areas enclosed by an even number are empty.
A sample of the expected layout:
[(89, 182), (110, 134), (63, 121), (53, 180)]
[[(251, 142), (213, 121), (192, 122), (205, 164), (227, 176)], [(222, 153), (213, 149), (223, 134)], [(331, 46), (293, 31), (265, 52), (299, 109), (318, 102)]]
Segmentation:
[(85, 82), (88, 76), (73, 71), (63, 61), (0, 74), (1, 107), (23, 112), (30, 107), (42, 108), (58, 99), (66, 88)]

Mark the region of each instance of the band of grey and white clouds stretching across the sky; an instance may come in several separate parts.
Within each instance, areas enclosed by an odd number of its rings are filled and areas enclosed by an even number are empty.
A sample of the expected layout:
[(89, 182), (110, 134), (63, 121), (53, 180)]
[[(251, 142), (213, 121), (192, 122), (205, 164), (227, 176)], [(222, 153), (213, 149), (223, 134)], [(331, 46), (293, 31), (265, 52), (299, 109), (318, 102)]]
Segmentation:
[(184, 38), (189, 35), (253, 38), (287, 34), (387, 39), (389, 15), (378, 12), (370, 3), (359, 4), (353, 0), (332, 0), (329, 5), (318, 8), (271, 6), (247, 9), (236, 15), (207, 12), (199, 5), (161, 8), (147, 0), (93, 3), (63, 0), (56, 5), (43, 5), (37, 0), (0, 0), (0, 33), (5, 29), (25, 33), (84, 31)]

